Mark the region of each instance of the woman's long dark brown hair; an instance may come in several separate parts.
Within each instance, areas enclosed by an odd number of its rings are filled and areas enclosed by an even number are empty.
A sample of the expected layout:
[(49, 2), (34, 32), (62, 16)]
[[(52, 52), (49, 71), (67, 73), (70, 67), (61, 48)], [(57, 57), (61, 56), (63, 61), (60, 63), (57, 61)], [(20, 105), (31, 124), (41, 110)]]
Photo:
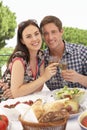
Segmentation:
[(21, 42), (21, 39), (22, 39), (22, 32), (23, 30), (29, 26), (29, 25), (34, 25), (36, 26), (40, 33), (41, 33), (41, 30), (36, 22), (36, 20), (27, 20), (27, 21), (24, 21), (24, 22), (21, 22), (19, 25), (18, 25), (18, 30), (17, 30), (17, 45), (13, 51), (13, 53), (11, 54), (9, 60), (8, 60), (8, 63), (7, 63), (7, 66), (9, 65), (9, 63), (11, 62), (12, 60), (12, 57), (14, 55), (14, 53), (16, 53), (17, 51), (22, 51), (24, 52), (24, 54), (26, 55), (26, 61), (28, 62), (29, 59), (30, 59), (30, 54), (29, 54), (29, 51), (27, 49), (27, 47)]

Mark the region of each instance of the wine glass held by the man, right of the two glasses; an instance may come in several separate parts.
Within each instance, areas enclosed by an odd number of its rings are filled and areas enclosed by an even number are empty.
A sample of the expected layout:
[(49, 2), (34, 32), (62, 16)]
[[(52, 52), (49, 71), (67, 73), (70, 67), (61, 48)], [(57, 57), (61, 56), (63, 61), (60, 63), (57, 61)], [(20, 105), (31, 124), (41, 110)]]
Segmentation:
[[(67, 68), (68, 68), (68, 64), (67, 64), (67, 61), (66, 61), (66, 59), (62, 59), (61, 61), (60, 61), (60, 63), (59, 63), (59, 67), (60, 67), (60, 72), (62, 71), (62, 70), (67, 70)], [(63, 79), (63, 85), (67, 85), (67, 82)]]

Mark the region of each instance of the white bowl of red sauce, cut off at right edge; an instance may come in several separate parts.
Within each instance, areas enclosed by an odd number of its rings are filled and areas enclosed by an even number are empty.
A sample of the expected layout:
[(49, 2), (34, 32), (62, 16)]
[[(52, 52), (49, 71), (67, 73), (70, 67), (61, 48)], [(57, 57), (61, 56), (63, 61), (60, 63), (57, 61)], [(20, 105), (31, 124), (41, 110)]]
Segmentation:
[(79, 115), (78, 123), (82, 130), (87, 130), (87, 110)]

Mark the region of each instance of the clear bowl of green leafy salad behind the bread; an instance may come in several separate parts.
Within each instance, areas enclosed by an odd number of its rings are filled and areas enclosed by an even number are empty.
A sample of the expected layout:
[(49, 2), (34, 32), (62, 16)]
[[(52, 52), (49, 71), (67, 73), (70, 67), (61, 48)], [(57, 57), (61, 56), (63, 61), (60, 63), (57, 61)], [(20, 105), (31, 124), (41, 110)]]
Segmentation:
[(64, 86), (61, 89), (56, 89), (53, 91), (53, 97), (55, 100), (69, 98), (78, 101), (79, 103), (83, 102), (87, 98), (87, 91), (82, 88), (69, 88)]

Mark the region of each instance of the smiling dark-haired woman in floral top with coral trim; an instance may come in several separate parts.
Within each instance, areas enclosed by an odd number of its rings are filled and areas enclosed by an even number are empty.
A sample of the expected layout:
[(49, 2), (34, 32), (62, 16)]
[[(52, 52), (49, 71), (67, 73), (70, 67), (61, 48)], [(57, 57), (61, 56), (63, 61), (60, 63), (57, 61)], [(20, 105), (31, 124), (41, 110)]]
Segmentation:
[(41, 32), (35, 20), (27, 20), (19, 24), (17, 45), (8, 60), (2, 78), (10, 87), (10, 89), (3, 87), (6, 98), (16, 98), (40, 91), (43, 84), (56, 74), (58, 63), (52, 63), (44, 70), (41, 45)]

